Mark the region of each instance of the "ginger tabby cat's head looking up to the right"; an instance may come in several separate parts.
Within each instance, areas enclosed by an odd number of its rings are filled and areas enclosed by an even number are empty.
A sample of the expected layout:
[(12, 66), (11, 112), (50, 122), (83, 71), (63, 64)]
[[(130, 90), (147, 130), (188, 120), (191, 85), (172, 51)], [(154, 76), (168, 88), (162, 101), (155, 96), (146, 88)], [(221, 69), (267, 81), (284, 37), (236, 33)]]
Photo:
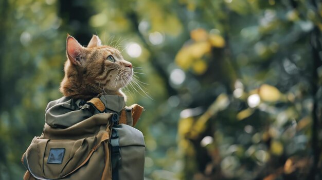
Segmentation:
[(133, 76), (132, 64), (125, 61), (120, 51), (101, 45), (93, 35), (87, 47), (81, 46), (74, 37), (67, 36), (67, 61), (60, 91), (67, 97), (91, 99), (99, 93), (126, 95), (121, 89)]

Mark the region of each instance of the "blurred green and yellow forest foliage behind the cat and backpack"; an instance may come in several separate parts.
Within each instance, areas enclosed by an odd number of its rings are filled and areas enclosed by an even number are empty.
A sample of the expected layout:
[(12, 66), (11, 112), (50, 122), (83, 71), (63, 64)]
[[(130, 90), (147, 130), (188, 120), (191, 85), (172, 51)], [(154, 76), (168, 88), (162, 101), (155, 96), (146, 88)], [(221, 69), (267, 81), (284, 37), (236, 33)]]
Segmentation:
[(61, 96), (67, 32), (122, 50), (141, 81), (146, 179), (321, 179), (322, 4), (0, 0), (0, 179)]

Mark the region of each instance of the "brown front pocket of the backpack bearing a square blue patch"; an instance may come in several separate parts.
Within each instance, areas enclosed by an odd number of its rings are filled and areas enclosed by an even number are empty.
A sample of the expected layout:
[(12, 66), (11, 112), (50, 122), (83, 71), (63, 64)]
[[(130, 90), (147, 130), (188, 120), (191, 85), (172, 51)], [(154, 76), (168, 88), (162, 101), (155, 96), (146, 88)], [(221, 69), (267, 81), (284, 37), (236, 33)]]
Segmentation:
[[(102, 142), (109, 139), (110, 126), (103, 127), (96, 135), (76, 140), (34, 137), (23, 155), (23, 164), (38, 179), (64, 178), (84, 166)], [(104, 157), (103, 149), (99, 150)]]

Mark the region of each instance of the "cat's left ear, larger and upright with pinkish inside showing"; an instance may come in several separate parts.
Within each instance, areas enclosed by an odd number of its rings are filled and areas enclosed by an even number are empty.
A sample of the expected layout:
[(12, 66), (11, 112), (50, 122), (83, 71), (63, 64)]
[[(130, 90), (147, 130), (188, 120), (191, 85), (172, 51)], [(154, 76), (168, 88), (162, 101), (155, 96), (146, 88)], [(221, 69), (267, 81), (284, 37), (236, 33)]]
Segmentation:
[(76, 39), (71, 35), (67, 36), (66, 42), (67, 42), (66, 53), (69, 61), (72, 64), (80, 65), (80, 57), (81, 57), (80, 53), (81, 53), (81, 50), (83, 49), (82, 45), (80, 45), (76, 41)]

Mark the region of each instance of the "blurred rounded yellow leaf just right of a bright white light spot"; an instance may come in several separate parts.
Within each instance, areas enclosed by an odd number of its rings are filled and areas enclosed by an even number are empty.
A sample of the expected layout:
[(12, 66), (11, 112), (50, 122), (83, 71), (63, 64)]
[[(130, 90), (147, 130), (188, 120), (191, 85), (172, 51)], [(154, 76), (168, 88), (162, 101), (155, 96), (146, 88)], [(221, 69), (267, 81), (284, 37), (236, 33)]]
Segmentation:
[(259, 88), (259, 96), (263, 101), (276, 102), (281, 98), (281, 93), (276, 87), (264, 84)]

